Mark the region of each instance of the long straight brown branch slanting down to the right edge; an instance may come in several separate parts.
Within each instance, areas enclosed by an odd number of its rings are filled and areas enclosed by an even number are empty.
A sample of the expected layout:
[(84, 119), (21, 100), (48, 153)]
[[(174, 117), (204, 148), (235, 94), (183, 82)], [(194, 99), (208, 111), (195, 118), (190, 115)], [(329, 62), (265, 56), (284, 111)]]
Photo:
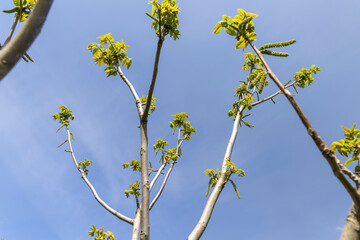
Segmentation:
[(350, 194), (352, 200), (354, 201), (355, 205), (357, 207), (360, 207), (360, 194), (357, 193), (356, 188), (347, 180), (347, 178), (344, 176), (342, 169), (340, 168), (339, 162), (335, 156), (335, 153), (332, 152), (329, 147), (326, 145), (326, 143), (321, 139), (320, 135), (315, 131), (313, 126), (310, 124), (310, 121), (307, 119), (305, 114), (302, 112), (300, 106), (295, 101), (294, 97), (290, 93), (289, 90), (287, 90), (284, 85), (280, 82), (280, 80), (277, 78), (277, 76), (271, 71), (271, 68), (265, 61), (262, 53), (255, 47), (255, 45), (249, 40), (247, 36), (244, 36), (246, 41), (250, 44), (252, 49), (255, 51), (255, 53), (260, 58), (261, 62), (265, 66), (265, 69), (270, 76), (270, 78), (275, 82), (275, 84), (278, 86), (278, 88), (285, 94), (285, 97), (288, 99), (294, 110), (296, 111), (298, 117), (304, 124), (308, 134), (313, 139), (315, 145), (321, 152), (321, 154), (324, 156), (324, 158), (329, 163), (330, 167), (332, 168), (332, 171), (334, 175), (338, 178), (338, 180), (342, 183), (342, 185), (345, 187), (347, 192)]

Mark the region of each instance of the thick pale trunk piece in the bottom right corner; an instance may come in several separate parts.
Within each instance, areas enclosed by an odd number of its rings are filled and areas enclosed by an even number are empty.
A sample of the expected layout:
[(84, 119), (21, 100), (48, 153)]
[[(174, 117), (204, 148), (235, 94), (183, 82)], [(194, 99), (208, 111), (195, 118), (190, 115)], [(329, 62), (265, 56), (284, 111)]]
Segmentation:
[(354, 203), (351, 205), (340, 240), (360, 240), (360, 217)]

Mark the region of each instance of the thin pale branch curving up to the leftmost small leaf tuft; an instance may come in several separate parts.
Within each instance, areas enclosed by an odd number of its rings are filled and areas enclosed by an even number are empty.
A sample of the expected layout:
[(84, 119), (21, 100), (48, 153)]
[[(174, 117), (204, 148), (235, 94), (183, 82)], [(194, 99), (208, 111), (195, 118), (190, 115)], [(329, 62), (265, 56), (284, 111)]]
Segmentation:
[(109, 205), (107, 205), (97, 194), (94, 186), (90, 183), (90, 181), (87, 179), (85, 172), (80, 168), (78, 162), (76, 161), (75, 155), (74, 155), (74, 151), (71, 145), (71, 135), (70, 135), (70, 131), (68, 126), (66, 126), (66, 132), (67, 132), (67, 136), (68, 136), (68, 144), (69, 144), (69, 148), (70, 148), (70, 153), (71, 153), (71, 157), (74, 161), (74, 164), (76, 166), (76, 168), (79, 170), (79, 172), (81, 173), (81, 178), (85, 181), (85, 183), (88, 185), (88, 187), (90, 188), (91, 192), (93, 193), (96, 201), (98, 201), (100, 203), (101, 206), (103, 206), (108, 212), (110, 212), (111, 214), (113, 214), (115, 217), (119, 218), (120, 220), (123, 220), (124, 222), (127, 222), (129, 224), (133, 224), (134, 220), (124, 216), (123, 214), (117, 212), (116, 210), (114, 210), (113, 208), (111, 208)]

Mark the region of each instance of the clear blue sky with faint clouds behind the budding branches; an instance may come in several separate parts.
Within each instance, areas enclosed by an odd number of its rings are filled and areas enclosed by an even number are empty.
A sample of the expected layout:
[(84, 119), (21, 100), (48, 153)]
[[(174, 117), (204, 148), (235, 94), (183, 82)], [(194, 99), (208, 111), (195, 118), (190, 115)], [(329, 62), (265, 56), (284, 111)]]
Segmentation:
[[(70, 156), (57, 149), (65, 133), (51, 114), (66, 105), (75, 114), (77, 157), (93, 161), (89, 179), (113, 208), (133, 217), (134, 199), (124, 190), (137, 175), (121, 164), (139, 158), (138, 116), (119, 77), (106, 78), (86, 46), (111, 32), (130, 45), (126, 76), (139, 95), (151, 80), (156, 37), (147, 1), (55, 1), (41, 35), (29, 50), (35, 63), (20, 62), (0, 84), (0, 237), (6, 240), (86, 240), (89, 226), (104, 226), (129, 239), (130, 225), (106, 212), (81, 180)], [(316, 64), (316, 82), (296, 96), (330, 145), (343, 137), (358, 110), (360, 3), (343, 1), (179, 1), (180, 40), (164, 43), (149, 120), (149, 142), (172, 141), (171, 114), (187, 112), (198, 133), (151, 211), (152, 239), (186, 239), (206, 202), (208, 168), (221, 166), (232, 129), (227, 112), (234, 88), (245, 79), (243, 51), (225, 34), (213, 35), (222, 14), (242, 8), (257, 13), (257, 46), (297, 39), (288, 58), (268, 57), (287, 82)], [(10, 9), (12, 1), (1, 1)], [(0, 14), (4, 41), (12, 23)], [(250, 50), (250, 49), (248, 49)], [(263, 96), (277, 89), (268, 87)], [(333, 176), (283, 96), (254, 108), (240, 128), (232, 160), (246, 177), (235, 179), (242, 199), (226, 186), (202, 239), (338, 239), (351, 199)], [(150, 159), (157, 158), (152, 153)]]

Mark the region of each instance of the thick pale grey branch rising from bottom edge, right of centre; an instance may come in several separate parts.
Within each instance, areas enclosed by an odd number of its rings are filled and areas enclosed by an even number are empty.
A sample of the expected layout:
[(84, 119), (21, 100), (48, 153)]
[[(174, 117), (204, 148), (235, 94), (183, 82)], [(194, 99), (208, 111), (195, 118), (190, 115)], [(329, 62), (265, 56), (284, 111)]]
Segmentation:
[(216, 185), (215, 185), (213, 191), (211, 192), (209, 199), (206, 202), (204, 211), (200, 217), (199, 222), (197, 223), (197, 225), (195, 226), (195, 228), (193, 229), (193, 231), (190, 233), (189, 237), (187, 238), (188, 240), (200, 239), (201, 235), (204, 233), (204, 231), (210, 221), (211, 214), (214, 210), (217, 199), (219, 198), (220, 193), (225, 186), (225, 182), (226, 182), (225, 173), (227, 171), (227, 167), (225, 166), (225, 164), (226, 164), (226, 161), (230, 161), (230, 159), (231, 159), (231, 153), (232, 153), (232, 150), (234, 147), (234, 143), (235, 143), (236, 136), (237, 136), (238, 129), (239, 129), (239, 123), (241, 120), (241, 115), (242, 115), (242, 112), (244, 109), (245, 109), (245, 107), (243, 105), (241, 105), (238, 113), (236, 114), (236, 118), (235, 118), (234, 124), (233, 124), (233, 130), (232, 130), (230, 140), (229, 140), (229, 143), (226, 148), (224, 160), (222, 163), (220, 177), (219, 177), (218, 181), (216, 182)]

